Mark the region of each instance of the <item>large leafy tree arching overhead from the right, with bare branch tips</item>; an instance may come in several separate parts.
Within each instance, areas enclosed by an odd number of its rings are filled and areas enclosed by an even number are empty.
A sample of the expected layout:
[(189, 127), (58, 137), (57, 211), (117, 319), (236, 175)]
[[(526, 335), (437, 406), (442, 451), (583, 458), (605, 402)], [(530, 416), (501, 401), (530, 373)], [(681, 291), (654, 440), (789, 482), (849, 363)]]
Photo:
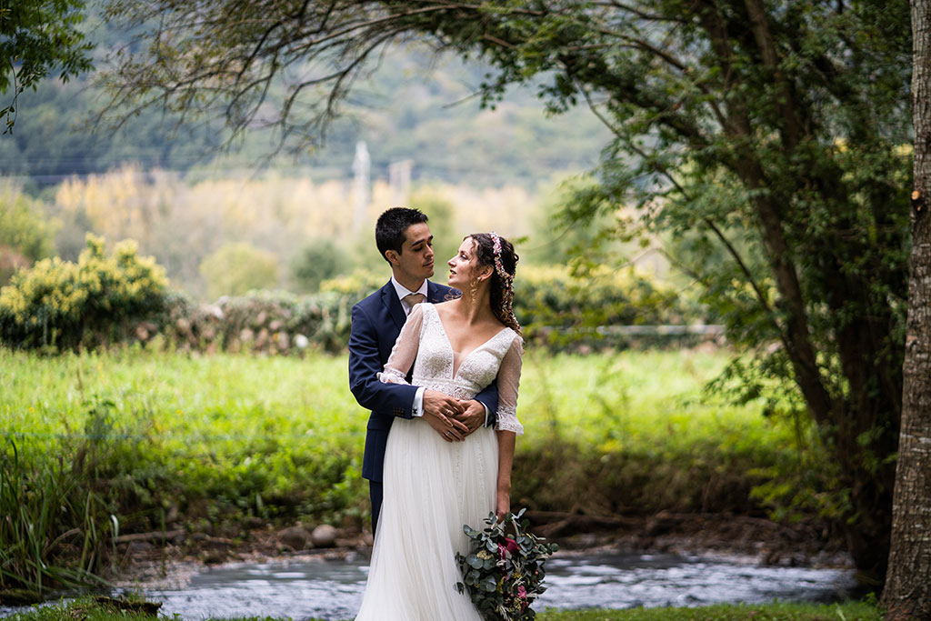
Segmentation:
[(882, 581), (909, 256), (907, 2), (113, 0), (109, 16), (155, 24), (117, 59), (115, 104), (274, 127), (282, 145), (322, 140), (385, 49), (413, 40), (489, 62), (488, 105), (533, 83), (553, 113), (589, 107), (614, 142), (567, 215), (679, 240), (670, 256), (752, 352), (731, 385), (758, 398), (775, 380), (836, 457), (838, 490), (799, 502), (830, 498), (858, 568)]

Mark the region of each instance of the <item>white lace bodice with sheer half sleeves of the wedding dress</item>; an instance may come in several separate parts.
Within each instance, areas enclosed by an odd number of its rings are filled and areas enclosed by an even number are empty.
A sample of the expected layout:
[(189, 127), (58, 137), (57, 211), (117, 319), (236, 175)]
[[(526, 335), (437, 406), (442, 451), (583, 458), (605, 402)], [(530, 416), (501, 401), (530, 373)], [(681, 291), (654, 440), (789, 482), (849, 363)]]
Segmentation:
[(452, 351), (452, 344), (433, 304), (413, 307), (398, 334), (398, 341), (385, 363), (383, 382), (407, 384), (413, 364), (416, 386), (439, 390), (451, 397), (474, 398), (498, 379), (498, 422), (495, 428), (523, 433), (517, 418), (522, 341), (517, 332), (504, 328), (465, 356)]

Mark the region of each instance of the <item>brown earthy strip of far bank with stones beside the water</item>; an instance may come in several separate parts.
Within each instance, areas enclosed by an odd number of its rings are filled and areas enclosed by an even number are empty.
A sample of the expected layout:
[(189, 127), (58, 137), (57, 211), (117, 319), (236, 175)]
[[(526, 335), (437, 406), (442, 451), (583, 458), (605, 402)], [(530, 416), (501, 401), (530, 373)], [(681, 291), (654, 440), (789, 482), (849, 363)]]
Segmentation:
[[(560, 544), (560, 556), (680, 554), (761, 567), (853, 567), (841, 542), (830, 538), (825, 527), (811, 523), (785, 525), (747, 516), (668, 511), (641, 517), (530, 511), (528, 517), (535, 533)], [(334, 529), (332, 539), (323, 546), (315, 546), (309, 536), (304, 546), (298, 546), (302, 539), (295, 540), (294, 531), (295, 527), (276, 529), (264, 524), (236, 539), (192, 533), (175, 534), (165, 546), (138, 540), (124, 543), (109, 577), (116, 587), (128, 591), (178, 589), (192, 575), (223, 564), (371, 555), (368, 531)]]

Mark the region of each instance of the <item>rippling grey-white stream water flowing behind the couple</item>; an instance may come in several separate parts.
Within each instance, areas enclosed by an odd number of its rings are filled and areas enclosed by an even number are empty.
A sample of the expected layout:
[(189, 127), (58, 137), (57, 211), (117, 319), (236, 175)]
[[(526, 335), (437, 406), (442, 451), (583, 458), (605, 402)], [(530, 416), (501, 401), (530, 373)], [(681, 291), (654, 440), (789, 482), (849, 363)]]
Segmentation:
[[(163, 602), (163, 613), (183, 619), (269, 615), (340, 621), (358, 610), (368, 562), (357, 556), (225, 565), (194, 574), (183, 588), (144, 593)], [(538, 611), (838, 601), (856, 587), (850, 570), (762, 567), (672, 554), (558, 554), (546, 566), (548, 590), (534, 606)]]

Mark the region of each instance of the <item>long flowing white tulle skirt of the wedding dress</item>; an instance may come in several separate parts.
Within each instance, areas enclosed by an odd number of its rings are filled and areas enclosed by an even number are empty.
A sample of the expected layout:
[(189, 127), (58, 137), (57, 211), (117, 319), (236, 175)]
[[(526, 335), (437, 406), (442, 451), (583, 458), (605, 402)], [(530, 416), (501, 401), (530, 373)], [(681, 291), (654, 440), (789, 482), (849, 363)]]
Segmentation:
[(481, 621), (456, 582), (463, 524), (493, 510), (498, 439), (481, 427), (446, 442), (422, 419), (398, 419), (385, 451), (385, 500), (356, 621)]

